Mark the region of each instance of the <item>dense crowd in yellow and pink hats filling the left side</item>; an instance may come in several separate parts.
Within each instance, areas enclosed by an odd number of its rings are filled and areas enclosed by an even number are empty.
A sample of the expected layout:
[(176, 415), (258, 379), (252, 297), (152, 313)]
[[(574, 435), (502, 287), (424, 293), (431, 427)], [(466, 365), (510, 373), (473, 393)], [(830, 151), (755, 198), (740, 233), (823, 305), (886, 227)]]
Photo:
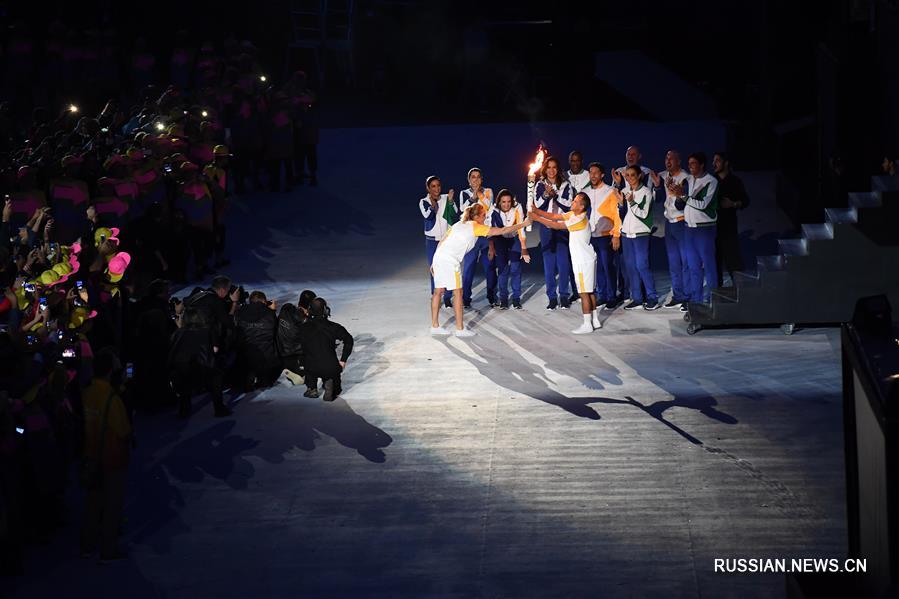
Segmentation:
[[(56, 23), (38, 48), (20, 26), (6, 44), (5, 89), (18, 94), (0, 102), (3, 574), (22, 572), (23, 548), (68, 519), (76, 464), (87, 489), (83, 554), (123, 557), (135, 409), (178, 405), (188, 416), (205, 390), (226, 416), (224, 386), (274, 381), (276, 335), (261, 358), (252, 352), (261, 338), (246, 335), (261, 318), (258, 297), (225, 277), (183, 301), (170, 285), (228, 264), (232, 194), (289, 189), (307, 175), (316, 183), (315, 97), (302, 72), (275, 87), (251, 43), (192, 48), (179, 34), (165, 84), (137, 40), (119, 89), (114, 46), (83, 33)], [(261, 305), (277, 327), (274, 306)], [(293, 308), (285, 318), (302, 324), (308, 313)], [(302, 373), (298, 348), (284, 355)]]

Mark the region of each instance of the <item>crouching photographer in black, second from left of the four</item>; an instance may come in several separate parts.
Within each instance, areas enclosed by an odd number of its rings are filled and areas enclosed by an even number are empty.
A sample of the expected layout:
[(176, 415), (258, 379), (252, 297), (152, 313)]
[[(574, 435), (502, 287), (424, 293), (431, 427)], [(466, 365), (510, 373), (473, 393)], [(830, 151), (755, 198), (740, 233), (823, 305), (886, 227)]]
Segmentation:
[(237, 328), (242, 333), (240, 363), (245, 368), (245, 389), (270, 387), (281, 373), (281, 361), (275, 351), (278, 317), (273, 302), (261, 291), (249, 296), (249, 303), (237, 309)]

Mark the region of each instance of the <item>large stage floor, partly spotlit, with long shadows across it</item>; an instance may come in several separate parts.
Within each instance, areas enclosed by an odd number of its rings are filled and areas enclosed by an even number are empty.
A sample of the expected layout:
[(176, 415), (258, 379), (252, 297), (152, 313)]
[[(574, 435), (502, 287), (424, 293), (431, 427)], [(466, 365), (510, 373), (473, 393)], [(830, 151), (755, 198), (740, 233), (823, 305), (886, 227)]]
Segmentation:
[[(546, 312), (532, 264), (523, 311), (487, 308), (481, 282), (478, 335), (428, 336), (425, 177), (458, 193), (477, 165), (523, 192), (541, 137), (609, 166), (639, 143), (654, 168), (723, 143), (714, 123), (323, 132), (322, 187), (236, 203), (228, 274), (279, 304), (328, 299), (356, 338), (345, 393), (282, 378), (233, 418), (138, 417), (130, 559), (79, 560), (73, 514), (14, 596), (769, 598), (783, 575), (713, 560), (842, 557), (838, 330), (688, 336), (679, 312), (618, 309), (575, 337), (579, 305)], [(746, 179), (761, 247), (782, 221)]]

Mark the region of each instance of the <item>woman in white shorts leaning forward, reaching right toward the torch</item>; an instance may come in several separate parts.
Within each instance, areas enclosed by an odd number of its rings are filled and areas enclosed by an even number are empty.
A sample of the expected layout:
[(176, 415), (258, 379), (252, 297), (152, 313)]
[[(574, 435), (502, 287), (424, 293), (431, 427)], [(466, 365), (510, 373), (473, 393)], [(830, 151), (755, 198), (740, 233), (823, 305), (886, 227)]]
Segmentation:
[(462, 214), (462, 220), (453, 225), (437, 246), (431, 264), (434, 275), (434, 295), (431, 297), (431, 334), (449, 335), (440, 326), (440, 298), (444, 291), (453, 292), (453, 310), (456, 313), (456, 337), (471, 337), (474, 333), (465, 328), (462, 320), (462, 260), (471, 251), (479, 237), (514, 233), (531, 224), (531, 219), (509, 227), (488, 227), (484, 224), (488, 210), (483, 204), (471, 204)]

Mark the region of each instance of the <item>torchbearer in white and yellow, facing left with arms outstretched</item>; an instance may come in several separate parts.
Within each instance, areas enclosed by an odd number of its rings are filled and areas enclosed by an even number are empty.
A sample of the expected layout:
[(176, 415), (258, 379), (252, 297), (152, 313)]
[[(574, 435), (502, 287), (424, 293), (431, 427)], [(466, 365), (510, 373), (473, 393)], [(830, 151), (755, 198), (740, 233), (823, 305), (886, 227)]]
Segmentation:
[(530, 213), (533, 220), (550, 229), (568, 231), (568, 251), (571, 255), (574, 279), (577, 282), (577, 292), (581, 296), (581, 310), (584, 313), (583, 324), (572, 331), (575, 335), (592, 333), (594, 329), (602, 328), (602, 321), (599, 320), (599, 312), (596, 310), (596, 296), (593, 294), (596, 287), (596, 252), (590, 245), (589, 212), (590, 196), (580, 192), (574, 196), (570, 212), (553, 214), (534, 208)]

